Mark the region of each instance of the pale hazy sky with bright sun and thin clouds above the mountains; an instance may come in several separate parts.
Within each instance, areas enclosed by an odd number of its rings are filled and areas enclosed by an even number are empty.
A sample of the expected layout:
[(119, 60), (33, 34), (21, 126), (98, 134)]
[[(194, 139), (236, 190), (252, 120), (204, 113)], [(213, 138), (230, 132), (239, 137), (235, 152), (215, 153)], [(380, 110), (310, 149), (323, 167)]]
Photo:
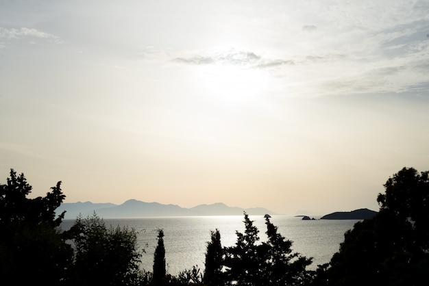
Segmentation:
[(378, 210), (428, 124), (428, 0), (0, 0), (0, 183), (31, 197)]

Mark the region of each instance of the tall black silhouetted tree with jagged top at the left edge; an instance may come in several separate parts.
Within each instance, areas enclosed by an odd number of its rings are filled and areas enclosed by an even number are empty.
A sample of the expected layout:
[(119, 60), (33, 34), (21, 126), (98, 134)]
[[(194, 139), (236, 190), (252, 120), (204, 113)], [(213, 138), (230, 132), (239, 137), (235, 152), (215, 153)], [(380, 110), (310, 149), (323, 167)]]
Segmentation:
[[(73, 252), (57, 226), (55, 210), (65, 196), (61, 182), (45, 197), (27, 198), (32, 186), (11, 169), (0, 184), (0, 276), (12, 285), (61, 285)], [(3, 284), (5, 285), (5, 284)]]

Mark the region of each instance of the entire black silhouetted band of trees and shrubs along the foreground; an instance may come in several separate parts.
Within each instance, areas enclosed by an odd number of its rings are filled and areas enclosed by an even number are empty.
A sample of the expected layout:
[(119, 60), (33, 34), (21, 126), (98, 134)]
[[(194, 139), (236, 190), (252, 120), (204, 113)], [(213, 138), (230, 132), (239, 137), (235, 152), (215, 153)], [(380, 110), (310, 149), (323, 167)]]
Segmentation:
[(45, 197), (28, 198), (32, 187), (10, 170), (0, 184), (1, 285), (426, 285), (429, 281), (429, 172), (403, 168), (384, 184), (380, 211), (357, 222), (330, 263), (308, 270), (311, 258), (292, 250), (269, 218), (267, 240), (244, 213), (244, 233), (221, 245), (211, 231), (204, 270), (177, 276), (165, 267), (164, 232), (158, 230), (154, 268), (140, 269), (144, 248), (127, 227), (106, 227), (94, 213), (62, 231), (65, 196), (61, 182)]

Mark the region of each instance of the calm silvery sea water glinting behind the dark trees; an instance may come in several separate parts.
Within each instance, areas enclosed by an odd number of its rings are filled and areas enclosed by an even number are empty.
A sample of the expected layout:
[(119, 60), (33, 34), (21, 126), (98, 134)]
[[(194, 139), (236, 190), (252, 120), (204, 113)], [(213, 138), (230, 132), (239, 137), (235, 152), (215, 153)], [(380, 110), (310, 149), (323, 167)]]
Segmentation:
[[(249, 216), (260, 231), (260, 241), (266, 241), (265, 219)], [(171, 218), (103, 219), (106, 226), (128, 226), (138, 231), (138, 244), (145, 249), (142, 268), (152, 270), (154, 251), (157, 244), (157, 230), (164, 230), (165, 258), (167, 272), (176, 275), (185, 269), (198, 265), (204, 270), (206, 245), (210, 241), (210, 231), (219, 229), (221, 244), (233, 246), (236, 231), (243, 233), (244, 216), (201, 216)], [(74, 220), (64, 220), (62, 229), (71, 227)], [(339, 250), (345, 231), (352, 229), (358, 220), (302, 220), (293, 216), (273, 216), (271, 222), (278, 226), (278, 232), (293, 242), (293, 252), (305, 257), (313, 257), (310, 269), (327, 263)]]

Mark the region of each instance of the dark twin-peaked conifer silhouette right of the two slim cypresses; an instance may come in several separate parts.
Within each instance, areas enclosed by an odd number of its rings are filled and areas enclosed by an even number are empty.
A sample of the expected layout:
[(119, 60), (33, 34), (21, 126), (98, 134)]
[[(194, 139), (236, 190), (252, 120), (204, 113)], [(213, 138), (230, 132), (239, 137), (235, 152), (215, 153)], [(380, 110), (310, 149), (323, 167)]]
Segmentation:
[(306, 267), (312, 263), (293, 253), (292, 242), (278, 233), (266, 219), (267, 242), (258, 243), (258, 229), (245, 213), (245, 233), (236, 231), (235, 246), (225, 248), (225, 284), (238, 285), (308, 285), (311, 275)]

